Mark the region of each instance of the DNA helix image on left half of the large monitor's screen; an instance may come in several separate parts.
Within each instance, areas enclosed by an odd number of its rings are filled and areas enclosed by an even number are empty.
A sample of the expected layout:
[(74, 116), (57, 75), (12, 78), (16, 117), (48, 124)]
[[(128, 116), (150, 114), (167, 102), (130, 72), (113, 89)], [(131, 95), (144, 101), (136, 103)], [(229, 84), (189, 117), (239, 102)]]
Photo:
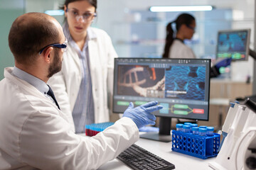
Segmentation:
[(164, 98), (164, 69), (149, 66), (118, 66), (117, 94)]

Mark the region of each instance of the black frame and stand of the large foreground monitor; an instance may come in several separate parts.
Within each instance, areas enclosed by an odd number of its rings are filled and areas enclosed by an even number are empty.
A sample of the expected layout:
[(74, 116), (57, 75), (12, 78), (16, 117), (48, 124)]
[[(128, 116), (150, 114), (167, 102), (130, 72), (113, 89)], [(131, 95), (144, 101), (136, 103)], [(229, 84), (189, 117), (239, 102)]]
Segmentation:
[[(208, 115), (207, 118), (204, 119), (200, 119), (200, 118), (185, 118), (188, 120), (208, 120), (209, 119), (209, 98), (210, 98), (210, 60), (208, 59), (146, 59), (146, 58), (117, 58), (114, 60), (114, 81), (117, 81), (117, 75), (115, 75), (117, 73), (117, 60), (182, 60), (182, 61), (186, 61), (186, 60), (205, 60), (208, 61), (208, 75), (206, 75), (206, 77), (208, 77), (208, 105), (207, 105), (207, 109), (208, 109)], [(181, 63), (182, 64), (182, 63)], [(206, 80), (207, 81), (207, 80)], [(117, 83), (117, 82), (116, 82)], [(114, 89), (113, 91), (117, 88), (116, 87), (117, 84), (114, 83)], [(115, 93), (115, 92), (114, 92)], [(171, 99), (170, 99), (171, 100)], [(151, 100), (149, 100), (151, 101)], [(114, 95), (113, 95), (113, 113), (120, 113), (118, 111), (114, 110)], [(150, 140), (156, 140), (156, 141), (161, 141), (161, 142), (171, 142), (171, 118), (179, 118), (179, 117), (174, 117), (174, 116), (164, 116), (164, 115), (159, 115), (159, 114), (155, 114), (156, 116), (160, 117), (160, 122), (159, 122), (159, 132), (148, 132), (146, 134), (140, 135), (140, 137), (142, 138), (146, 138), (146, 139), (150, 139)]]

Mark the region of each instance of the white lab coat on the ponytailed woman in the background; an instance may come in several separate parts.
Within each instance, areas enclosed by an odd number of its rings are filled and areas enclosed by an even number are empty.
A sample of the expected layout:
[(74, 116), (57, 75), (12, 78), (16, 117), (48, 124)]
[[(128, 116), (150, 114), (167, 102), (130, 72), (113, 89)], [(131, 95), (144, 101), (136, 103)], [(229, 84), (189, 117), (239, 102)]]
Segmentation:
[(196, 58), (193, 50), (185, 45), (181, 40), (174, 40), (170, 47), (169, 58)]

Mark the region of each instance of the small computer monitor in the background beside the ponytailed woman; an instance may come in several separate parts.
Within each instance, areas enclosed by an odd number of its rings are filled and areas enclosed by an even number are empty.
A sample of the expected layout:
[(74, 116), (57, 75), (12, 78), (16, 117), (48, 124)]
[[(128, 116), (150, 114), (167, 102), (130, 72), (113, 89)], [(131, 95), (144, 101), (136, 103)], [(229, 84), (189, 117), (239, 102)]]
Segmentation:
[(220, 30), (216, 57), (232, 57), (233, 61), (248, 60), (250, 45), (250, 29), (244, 30)]

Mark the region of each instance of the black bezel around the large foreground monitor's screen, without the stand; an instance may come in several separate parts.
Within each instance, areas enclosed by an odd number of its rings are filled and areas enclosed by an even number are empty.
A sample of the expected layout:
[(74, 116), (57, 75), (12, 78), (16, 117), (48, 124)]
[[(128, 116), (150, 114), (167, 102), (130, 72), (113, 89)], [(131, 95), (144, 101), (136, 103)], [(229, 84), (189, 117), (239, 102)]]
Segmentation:
[[(115, 76), (114, 73), (117, 71), (115, 65), (117, 60), (119, 59), (132, 59), (132, 60), (208, 60), (209, 61), (209, 69), (210, 69), (210, 59), (191, 59), (191, 58), (145, 58), (145, 57), (118, 57), (118, 58), (114, 58), (114, 72), (113, 72), (113, 95), (112, 95), (112, 113), (120, 113), (117, 111), (114, 111), (114, 81), (115, 81)], [(208, 115), (207, 115), (207, 119), (200, 119), (200, 118), (181, 118), (181, 119), (187, 119), (187, 120), (203, 120), (203, 121), (208, 121), (209, 117), (210, 117), (210, 70), (209, 70), (209, 75), (208, 75), (209, 79), (208, 79), (208, 84), (209, 84), (209, 90), (208, 90)], [(178, 117), (174, 117), (174, 116), (166, 116), (166, 115), (156, 115), (156, 117), (159, 118), (178, 118)]]

